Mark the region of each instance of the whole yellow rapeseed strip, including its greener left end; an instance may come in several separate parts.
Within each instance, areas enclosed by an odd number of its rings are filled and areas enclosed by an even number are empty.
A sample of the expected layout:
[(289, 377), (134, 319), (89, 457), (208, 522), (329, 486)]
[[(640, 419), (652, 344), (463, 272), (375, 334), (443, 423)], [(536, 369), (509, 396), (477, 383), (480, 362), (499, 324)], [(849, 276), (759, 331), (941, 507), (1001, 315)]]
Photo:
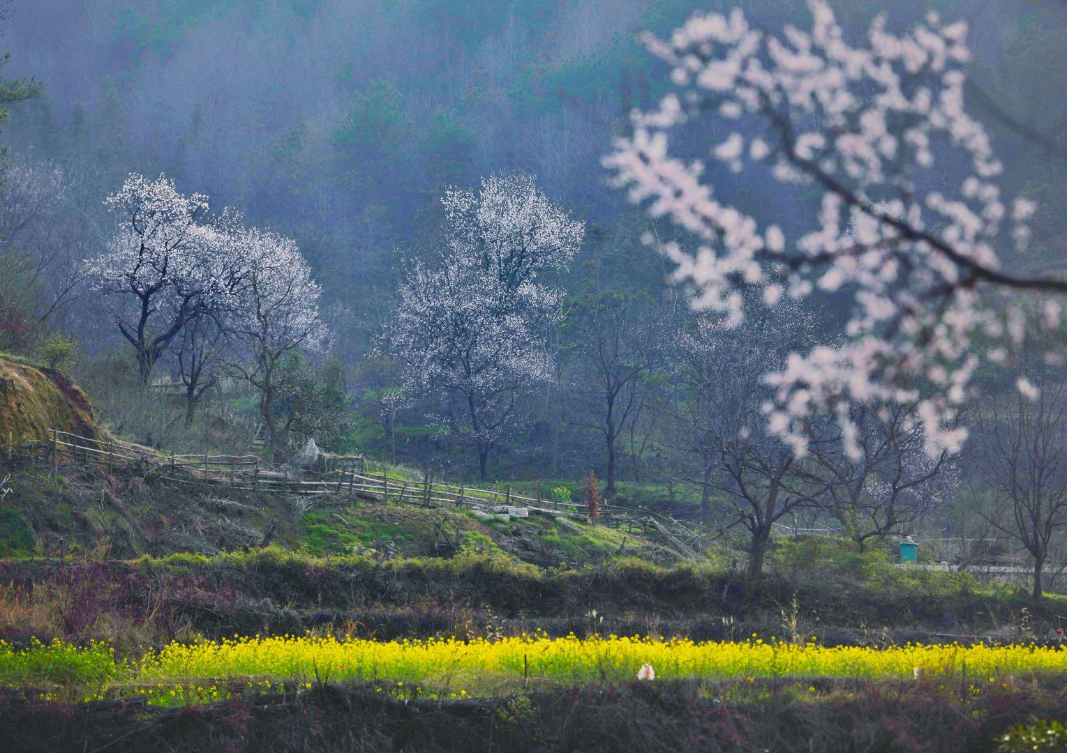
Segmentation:
[(301, 689), (361, 680), (397, 695), (491, 695), (516, 687), (633, 682), (642, 664), (657, 680), (762, 677), (937, 679), (1000, 683), (1067, 678), (1067, 648), (1035, 644), (906, 644), (888, 647), (793, 644), (755, 636), (745, 642), (642, 637), (375, 641), (331, 636), (252, 637), (171, 643), (140, 659), (115, 660), (107, 644), (61, 641), (16, 650), (0, 641), (0, 685), (49, 682), (84, 698), (146, 692), (155, 703), (228, 698), (240, 688)]

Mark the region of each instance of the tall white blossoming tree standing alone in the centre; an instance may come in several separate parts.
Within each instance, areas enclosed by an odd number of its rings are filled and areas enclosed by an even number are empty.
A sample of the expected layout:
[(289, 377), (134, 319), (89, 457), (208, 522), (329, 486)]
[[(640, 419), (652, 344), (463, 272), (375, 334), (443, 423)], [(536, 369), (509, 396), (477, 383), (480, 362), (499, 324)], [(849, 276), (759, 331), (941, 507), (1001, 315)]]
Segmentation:
[(527, 175), (490, 176), (443, 203), (445, 242), (432, 263), (409, 266), (382, 345), (409, 394), (440, 401), (484, 480), (522, 390), (554, 373), (545, 338), (561, 297), (540, 277), (567, 268), (584, 226)]

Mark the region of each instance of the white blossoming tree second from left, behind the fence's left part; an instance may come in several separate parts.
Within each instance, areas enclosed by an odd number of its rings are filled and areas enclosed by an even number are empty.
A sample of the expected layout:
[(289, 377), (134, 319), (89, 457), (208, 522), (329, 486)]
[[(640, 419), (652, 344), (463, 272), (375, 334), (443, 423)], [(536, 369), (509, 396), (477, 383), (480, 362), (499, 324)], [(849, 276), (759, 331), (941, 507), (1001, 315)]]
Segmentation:
[(277, 453), (276, 391), (286, 361), (298, 352), (321, 354), (330, 333), (319, 315), (322, 289), (297, 243), (258, 228), (237, 229), (234, 253), (241, 259), (241, 283), (226, 311), (227, 370), (259, 394), (259, 412), (269, 433), (268, 458)]

